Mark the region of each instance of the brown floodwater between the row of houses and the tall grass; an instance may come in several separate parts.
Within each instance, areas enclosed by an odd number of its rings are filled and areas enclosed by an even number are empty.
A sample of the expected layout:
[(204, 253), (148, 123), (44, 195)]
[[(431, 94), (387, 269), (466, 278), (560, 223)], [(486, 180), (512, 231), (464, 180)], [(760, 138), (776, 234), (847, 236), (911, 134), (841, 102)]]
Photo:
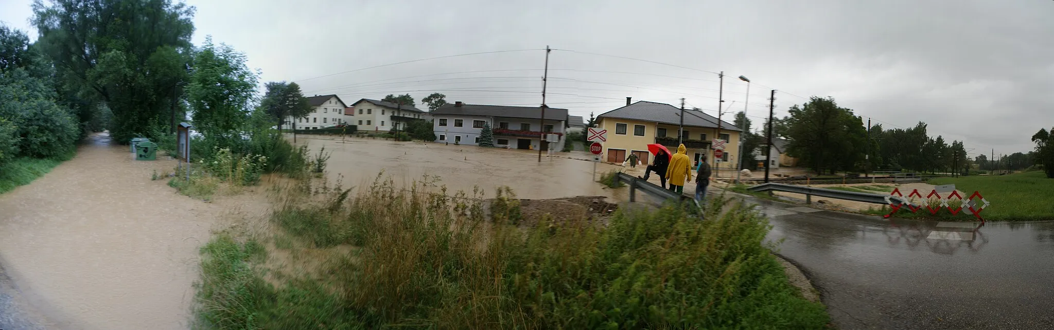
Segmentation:
[[(458, 190), (471, 194), (480, 187), (492, 197), (500, 186), (512, 188), (520, 198), (541, 199), (572, 196), (607, 196), (622, 200), (625, 189), (605, 189), (592, 179), (593, 163), (584, 152), (554, 153), (538, 161), (538, 151), (481, 148), (434, 142), (396, 142), (384, 139), (327, 136), (297, 136), (297, 143), (312, 152), (321, 147), (332, 151), (326, 170), (331, 180), (343, 175), (344, 186), (368, 185), (382, 170), (396, 183), (409, 183), (424, 175), (438, 176), (452, 194)], [(606, 163), (597, 166), (600, 173), (621, 169)]]

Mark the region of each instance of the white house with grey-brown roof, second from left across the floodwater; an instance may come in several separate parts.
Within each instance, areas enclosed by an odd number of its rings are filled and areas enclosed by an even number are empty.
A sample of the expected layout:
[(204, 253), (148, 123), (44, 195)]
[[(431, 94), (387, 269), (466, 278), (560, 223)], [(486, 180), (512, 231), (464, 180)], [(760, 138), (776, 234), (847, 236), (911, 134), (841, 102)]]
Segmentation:
[(374, 99), (359, 99), (351, 104), (354, 111), (349, 119), (363, 132), (405, 131), (411, 120), (429, 120), (428, 113), (410, 104), (397, 104)]

